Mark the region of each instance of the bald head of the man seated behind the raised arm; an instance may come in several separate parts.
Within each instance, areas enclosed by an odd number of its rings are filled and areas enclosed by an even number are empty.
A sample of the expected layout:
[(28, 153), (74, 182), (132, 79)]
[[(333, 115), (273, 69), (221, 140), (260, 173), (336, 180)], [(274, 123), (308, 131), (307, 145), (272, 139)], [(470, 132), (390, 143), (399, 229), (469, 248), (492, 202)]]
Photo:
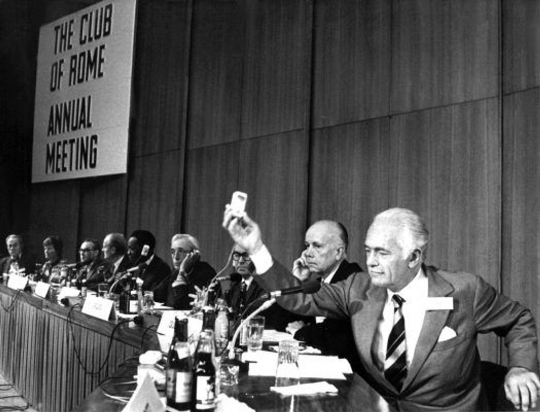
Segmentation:
[(309, 271), (326, 277), (345, 260), (347, 230), (339, 222), (320, 220), (306, 231), (304, 243), (302, 255)]

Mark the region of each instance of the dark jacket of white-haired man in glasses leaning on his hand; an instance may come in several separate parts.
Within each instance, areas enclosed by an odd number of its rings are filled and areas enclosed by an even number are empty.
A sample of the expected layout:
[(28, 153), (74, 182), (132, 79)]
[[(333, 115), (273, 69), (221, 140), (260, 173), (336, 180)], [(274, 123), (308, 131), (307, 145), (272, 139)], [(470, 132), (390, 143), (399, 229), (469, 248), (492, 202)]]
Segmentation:
[(187, 284), (172, 287), (172, 283), (178, 277), (178, 269), (168, 275), (161, 283), (154, 288), (154, 301), (165, 303), (165, 305), (177, 310), (191, 309), (192, 298), (188, 294), (195, 293), (195, 285), (204, 288), (212, 281), (215, 270), (206, 262), (195, 263), (193, 270), (187, 275)]

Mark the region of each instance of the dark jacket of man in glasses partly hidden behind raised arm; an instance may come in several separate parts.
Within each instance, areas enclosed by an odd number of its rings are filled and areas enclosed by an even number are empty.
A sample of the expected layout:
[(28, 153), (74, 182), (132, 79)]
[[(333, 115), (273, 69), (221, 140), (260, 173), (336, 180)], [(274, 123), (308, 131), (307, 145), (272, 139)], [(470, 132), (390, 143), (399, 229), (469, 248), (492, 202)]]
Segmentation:
[[(266, 293), (265, 289), (261, 287), (257, 280), (258, 276), (255, 275), (252, 282), (249, 284), (249, 288), (247, 288), (246, 290), (246, 307), (253, 301), (257, 300), (258, 297)], [(234, 310), (234, 313), (237, 315), (240, 315), (239, 307), (241, 284), (241, 281), (231, 283), (230, 289), (225, 294), (225, 300), (228, 307), (232, 308)], [(252, 305), (246, 311), (244, 318), (247, 317), (249, 314), (253, 313), (262, 304), (262, 302), (264, 301), (260, 301), (257, 304)], [(273, 304), (268, 309), (262, 311), (259, 315), (265, 317), (265, 328), (281, 331), (284, 331), (290, 322), (301, 320), (307, 323), (314, 321), (312, 317), (293, 314), (288, 310), (281, 308), (277, 304)]]

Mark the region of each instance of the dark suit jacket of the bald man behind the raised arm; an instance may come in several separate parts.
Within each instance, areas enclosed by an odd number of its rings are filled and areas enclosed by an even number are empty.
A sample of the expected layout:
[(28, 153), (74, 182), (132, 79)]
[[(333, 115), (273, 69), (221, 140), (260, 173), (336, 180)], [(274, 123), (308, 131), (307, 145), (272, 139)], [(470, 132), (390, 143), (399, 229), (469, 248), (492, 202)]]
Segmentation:
[[(344, 260), (340, 263), (330, 283), (337, 283), (345, 280), (349, 275), (360, 272), (362, 272), (362, 269), (357, 263), (349, 263)], [(359, 370), (360, 368), (360, 359), (348, 319), (327, 318), (321, 323), (309, 323), (297, 330), (294, 338), (320, 348), (325, 354), (347, 358), (353, 370)]]

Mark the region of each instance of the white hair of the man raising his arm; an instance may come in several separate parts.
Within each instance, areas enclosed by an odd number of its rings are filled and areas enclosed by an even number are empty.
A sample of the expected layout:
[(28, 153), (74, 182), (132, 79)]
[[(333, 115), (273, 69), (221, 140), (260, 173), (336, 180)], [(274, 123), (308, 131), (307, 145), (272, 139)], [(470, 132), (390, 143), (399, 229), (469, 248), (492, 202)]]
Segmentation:
[(386, 221), (401, 229), (397, 241), (401, 244), (403, 251), (409, 254), (415, 249), (420, 249), (422, 254), (426, 253), (429, 241), (429, 232), (426, 224), (419, 215), (409, 209), (392, 208), (384, 210), (373, 218), (373, 223)]

